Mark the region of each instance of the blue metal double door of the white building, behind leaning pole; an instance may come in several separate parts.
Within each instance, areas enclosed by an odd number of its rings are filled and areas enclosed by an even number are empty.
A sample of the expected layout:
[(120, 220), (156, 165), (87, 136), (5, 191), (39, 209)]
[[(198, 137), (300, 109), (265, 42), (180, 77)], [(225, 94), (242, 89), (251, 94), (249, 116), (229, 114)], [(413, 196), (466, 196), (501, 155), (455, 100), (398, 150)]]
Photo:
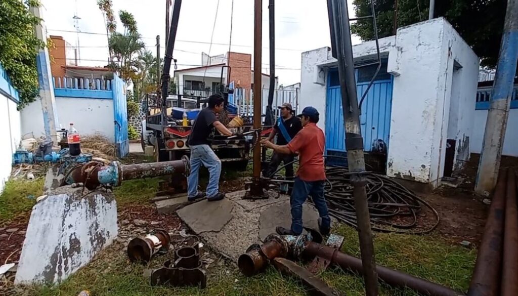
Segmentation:
[[(385, 67), (386, 68), (386, 67)], [(358, 71), (356, 71), (358, 78)], [(392, 110), (392, 76), (381, 74), (365, 97), (361, 110), (361, 129), (365, 151), (378, 151), (386, 153), (389, 145), (390, 116)], [(370, 80), (367, 78), (357, 81)], [(358, 102), (367, 89), (369, 82), (358, 82), (356, 91)], [(338, 72), (330, 70), (327, 79), (326, 98), (326, 152), (345, 152), (345, 133), (343, 126), (342, 96), (338, 83)], [(339, 153), (338, 153), (339, 154)]]

